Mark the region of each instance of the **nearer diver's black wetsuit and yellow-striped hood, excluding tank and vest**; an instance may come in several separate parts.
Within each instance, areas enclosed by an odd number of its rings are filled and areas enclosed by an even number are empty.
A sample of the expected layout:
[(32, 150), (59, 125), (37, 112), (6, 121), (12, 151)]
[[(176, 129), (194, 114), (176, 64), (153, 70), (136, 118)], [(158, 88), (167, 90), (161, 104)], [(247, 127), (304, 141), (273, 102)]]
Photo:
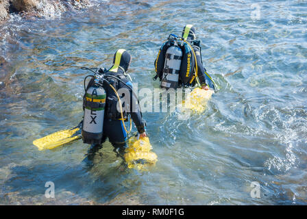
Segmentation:
[[(142, 118), (140, 107), (138, 107), (137, 97), (132, 93), (131, 89), (127, 88), (127, 86), (132, 88), (132, 81), (130, 81), (130, 77), (126, 73), (130, 66), (130, 62), (130, 53), (124, 49), (117, 50), (114, 54), (113, 66), (105, 73), (105, 77), (108, 78), (108, 75), (111, 75), (121, 80), (119, 81), (110, 77), (109, 82), (117, 92), (119, 92), (119, 90), (125, 90), (125, 92), (122, 92), (122, 96), (120, 96), (121, 100), (130, 100), (130, 104), (126, 103), (127, 101), (123, 101), (123, 109), (129, 109), (126, 110), (128, 112), (123, 110), (123, 118), (125, 121), (128, 121), (128, 114), (130, 114), (134, 124), (136, 125), (136, 129), (138, 129), (140, 138), (144, 138), (147, 136), (145, 132), (145, 121)], [(123, 82), (125, 82), (126, 85), (123, 84)], [(116, 99), (114, 90), (112, 90), (110, 86), (106, 86), (104, 89), (106, 90), (107, 98), (103, 120), (103, 137), (101, 142), (105, 142), (108, 138), (114, 146), (114, 151), (116, 151), (117, 155), (123, 156), (126, 147), (125, 141), (127, 140), (127, 130), (121, 120), (121, 112), (117, 110), (116, 103), (112, 102), (112, 99)], [(130, 97), (124, 97), (125, 94), (130, 94)], [(121, 92), (119, 92), (119, 95), (121, 95)], [(101, 145), (92, 145), (88, 152), (88, 159), (93, 159), (95, 152), (99, 149), (101, 149)]]

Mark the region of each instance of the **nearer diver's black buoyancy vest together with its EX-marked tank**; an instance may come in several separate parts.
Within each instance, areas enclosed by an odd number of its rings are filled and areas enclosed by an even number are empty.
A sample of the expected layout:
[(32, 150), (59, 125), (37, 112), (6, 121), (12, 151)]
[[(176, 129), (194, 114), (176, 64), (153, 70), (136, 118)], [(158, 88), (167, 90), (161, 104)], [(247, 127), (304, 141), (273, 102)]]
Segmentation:
[[(97, 75), (95, 77), (88, 75), (87, 77), (92, 79), (86, 87), (86, 78), (84, 79), (82, 140), (86, 144), (101, 144), (105, 116), (109, 120), (127, 120), (125, 103), (119, 101), (119, 98), (123, 96), (119, 96), (116, 91), (119, 90), (119, 83), (127, 82), (127, 78), (123, 74), (108, 75), (108, 72), (105, 73), (103, 70), (101, 74), (103, 74), (103, 80)], [(119, 103), (121, 103), (120, 112)]]

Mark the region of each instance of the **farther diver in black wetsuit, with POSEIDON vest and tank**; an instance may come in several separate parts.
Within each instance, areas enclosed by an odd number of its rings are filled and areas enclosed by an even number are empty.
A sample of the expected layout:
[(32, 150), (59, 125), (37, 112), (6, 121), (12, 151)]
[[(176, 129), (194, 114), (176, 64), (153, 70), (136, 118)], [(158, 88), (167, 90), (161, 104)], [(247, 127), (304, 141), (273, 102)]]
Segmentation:
[(169, 41), (164, 42), (159, 50), (154, 63), (156, 76), (153, 79), (156, 80), (159, 77), (161, 88), (166, 89), (193, 87), (198, 81), (202, 89), (215, 90), (214, 82), (203, 66), (200, 40), (196, 40), (195, 27), (186, 25), (181, 39), (177, 36), (173, 38), (174, 36), (171, 34)]

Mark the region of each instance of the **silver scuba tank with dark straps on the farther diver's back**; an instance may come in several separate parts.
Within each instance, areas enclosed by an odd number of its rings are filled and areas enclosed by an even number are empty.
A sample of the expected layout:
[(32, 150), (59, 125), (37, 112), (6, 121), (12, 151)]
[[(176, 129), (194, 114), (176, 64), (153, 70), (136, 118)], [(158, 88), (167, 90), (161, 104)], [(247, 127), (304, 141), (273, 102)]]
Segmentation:
[(171, 46), (165, 55), (164, 68), (162, 71), (161, 88), (177, 88), (179, 80), (182, 50), (180, 47)]

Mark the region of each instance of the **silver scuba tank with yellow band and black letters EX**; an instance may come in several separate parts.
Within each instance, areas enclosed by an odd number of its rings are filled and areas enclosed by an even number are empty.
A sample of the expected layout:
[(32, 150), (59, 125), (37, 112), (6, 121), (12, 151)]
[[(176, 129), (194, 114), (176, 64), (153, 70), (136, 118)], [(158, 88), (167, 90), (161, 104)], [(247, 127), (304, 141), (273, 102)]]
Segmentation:
[(84, 96), (82, 127), (82, 140), (84, 143), (101, 144), (105, 106), (106, 91), (101, 86), (90, 86)]

